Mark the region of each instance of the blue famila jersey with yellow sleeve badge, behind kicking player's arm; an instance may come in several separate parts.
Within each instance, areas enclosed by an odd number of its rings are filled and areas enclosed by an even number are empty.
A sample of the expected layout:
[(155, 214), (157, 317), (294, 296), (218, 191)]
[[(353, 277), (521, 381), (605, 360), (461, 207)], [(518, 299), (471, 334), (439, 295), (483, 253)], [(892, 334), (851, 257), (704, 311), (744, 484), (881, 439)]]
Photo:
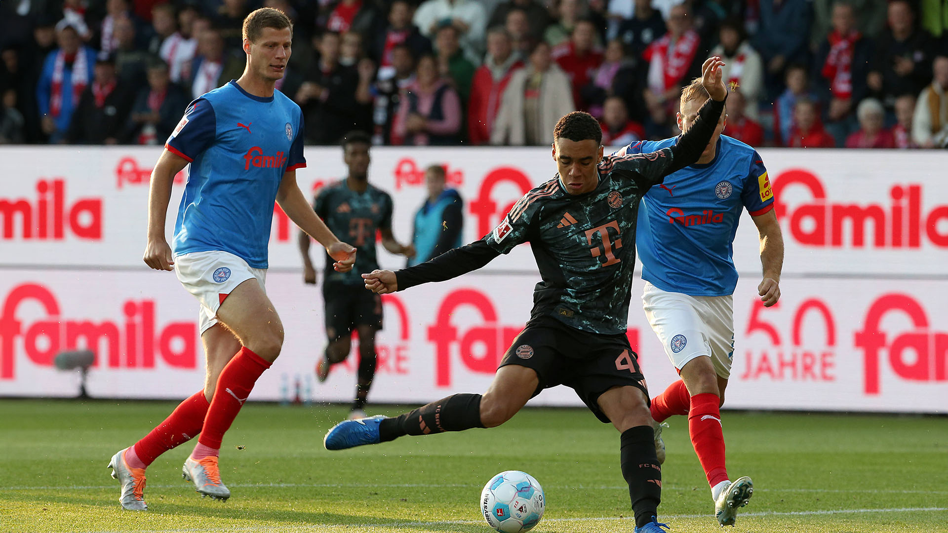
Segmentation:
[[(620, 153), (647, 154), (677, 141), (633, 142)], [(774, 208), (767, 169), (753, 148), (720, 136), (713, 161), (665, 176), (643, 197), (636, 230), (642, 279), (691, 296), (733, 294), (733, 243), (745, 208), (753, 216)]]

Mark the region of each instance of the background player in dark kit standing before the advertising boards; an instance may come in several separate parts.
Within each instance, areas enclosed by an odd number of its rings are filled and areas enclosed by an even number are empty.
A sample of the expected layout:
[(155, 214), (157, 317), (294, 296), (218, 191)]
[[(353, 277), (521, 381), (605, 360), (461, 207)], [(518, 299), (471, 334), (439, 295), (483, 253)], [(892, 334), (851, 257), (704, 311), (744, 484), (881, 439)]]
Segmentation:
[[(358, 381), (350, 418), (365, 416), (365, 402), (375, 377), (375, 333), (382, 329), (382, 298), (363, 288), (358, 272), (378, 268), (375, 235), (381, 233), (382, 246), (390, 252), (411, 257), (412, 245), (402, 245), (392, 235), (392, 196), (369, 183), (369, 147), (372, 140), (361, 132), (342, 139), (342, 156), (349, 175), (326, 185), (313, 200), (313, 209), (337, 235), (346, 235), (356, 247), (356, 267), (337, 272), (326, 263), (322, 280), (326, 337), (329, 344), (319, 358), (316, 376), (325, 381), (333, 364), (349, 357), (352, 332), (358, 333)], [(316, 283), (316, 269), (309, 258), (309, 235), (300, 232), (303, 281)]]

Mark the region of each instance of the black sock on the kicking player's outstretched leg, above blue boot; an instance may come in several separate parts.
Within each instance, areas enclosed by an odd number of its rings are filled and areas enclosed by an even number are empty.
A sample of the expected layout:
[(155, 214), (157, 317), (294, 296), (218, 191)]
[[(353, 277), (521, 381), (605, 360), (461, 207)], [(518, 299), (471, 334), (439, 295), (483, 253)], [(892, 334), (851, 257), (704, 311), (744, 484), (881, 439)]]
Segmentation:
[(483, 428), (481, 395), (449, 395), (396, 418), (387, 418), (379, 424), (378, 434), (381, 442), (387, 442), (403, 435), (463, 432), (471, 428)]

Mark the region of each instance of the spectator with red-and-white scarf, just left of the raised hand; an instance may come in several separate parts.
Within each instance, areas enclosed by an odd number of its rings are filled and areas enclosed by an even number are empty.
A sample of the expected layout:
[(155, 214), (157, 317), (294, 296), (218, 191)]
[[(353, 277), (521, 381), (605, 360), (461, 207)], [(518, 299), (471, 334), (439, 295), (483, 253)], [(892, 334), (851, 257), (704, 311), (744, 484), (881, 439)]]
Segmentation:
[(691, 28), (684, 6), (675, 6), (668, 17), (668, 32), (646, 48), (648, 62), (645, 100), (656, 122), (663, 122), (678, 107), (678, 95), (685, 80), (700, 72), (703, 57), (701, 39)]

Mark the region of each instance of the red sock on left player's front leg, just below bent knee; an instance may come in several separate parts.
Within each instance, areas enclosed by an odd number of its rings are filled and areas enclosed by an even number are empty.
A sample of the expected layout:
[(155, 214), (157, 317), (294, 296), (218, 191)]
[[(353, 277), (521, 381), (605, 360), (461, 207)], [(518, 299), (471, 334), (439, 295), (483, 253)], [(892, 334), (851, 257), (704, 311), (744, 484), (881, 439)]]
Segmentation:
[(270, 363), (245, 347), (230, 359), (221, 377), (217, 378), (217, 388), (210, 400), (208, 415), (204, 418), (204, 428), (197, 441), (216, 450), (220, 450), (224, 433), (230, 429), (234, 418), (240, 413), (244, 401), (253, 390), (257, 378), (270, 368)]

